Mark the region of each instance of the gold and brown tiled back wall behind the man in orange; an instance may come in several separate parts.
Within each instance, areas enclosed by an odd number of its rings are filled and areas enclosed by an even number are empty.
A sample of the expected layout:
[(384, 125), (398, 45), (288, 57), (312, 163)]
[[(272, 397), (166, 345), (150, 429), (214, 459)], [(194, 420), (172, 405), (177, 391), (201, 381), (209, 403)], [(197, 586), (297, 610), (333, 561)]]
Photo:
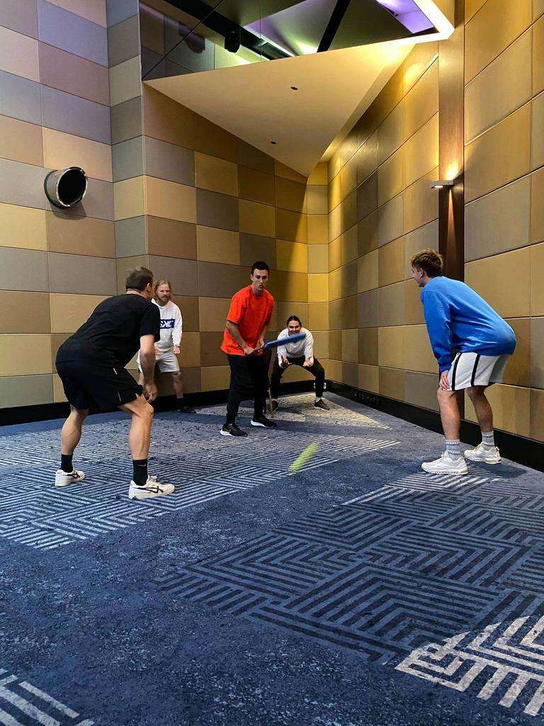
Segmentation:
[[(184, 317), (186, 391), (228, 387), (219, 347), (226, 313), (258, 259), (271, 266), (276, 299), (269, 335), (297, 314), (326, 359), (326, 165), (306, 179), (145, 84), (143, 118), (143, 174), (115, 184), (115, 212), (118, 223), (144, 216), (147, 250), (118, 260), (119, 283), (140, 261), (172, 282)], [(284, 380), (305, 378), (297, 369)]]

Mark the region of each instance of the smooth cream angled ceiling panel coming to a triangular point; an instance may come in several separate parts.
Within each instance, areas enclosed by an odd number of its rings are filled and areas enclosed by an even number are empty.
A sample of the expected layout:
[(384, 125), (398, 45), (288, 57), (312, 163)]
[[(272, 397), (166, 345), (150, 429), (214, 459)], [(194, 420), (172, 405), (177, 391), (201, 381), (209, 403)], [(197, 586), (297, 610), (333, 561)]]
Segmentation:
[[(236, 0), (227, 0), (227, 4), (229, 1), (236, 4)], [(289, 27), (293, 26), (284, 20), (282, 25), (279, 20), (289, 12), (293, 19), (305, 3), (267, 1), (271, 10), (276, 9), (276, 14), (267, 19), (274, 22), (273, 27), (268, 28), (267, 38), (274, 40), (273, 32), (281, 31), (284, 48), (300, 52), (296, 47), (296, 33), (287, 37)], [(308, 176), (331, 142), (347, 133), (376, 98), (413, 44), (445, 38), (453, 31), (451, 0), (379, 1), (388, 6), (388, 9), (382, 8), (387, 15), (390, 15), (390, 6), (397, 4), (399, 20), (392, 16), (391, 19), (403, 30), (395, 40), (342, 47), (342, 44), (353, 44), (354, 38), (358, 37), (354, 33), (353, 16), (345, 25), (343, 36), (341, 33), (334, 38), (340, 49), (319, 53), (314, 49), (310, 54), (144, 82)], [(327, 4), (330, 7), (330, 0), (312, 2), (316, 9), (323, 9)], [(406, 26), (414, 22), (411, 13), (414, 4), (432, 21), (432, 32), (426, 30), (424, 35), (414, 37), (406, 30)], [(322, 25), (321, 20), (316, 22)], [(418, 22), (421, 23), (421, 18)], [(387, 33), (392, 32), (393, 26), (388, 21), (381, 27)], [(367, 29), (363, 36), (370, 37), (371, 30)]]

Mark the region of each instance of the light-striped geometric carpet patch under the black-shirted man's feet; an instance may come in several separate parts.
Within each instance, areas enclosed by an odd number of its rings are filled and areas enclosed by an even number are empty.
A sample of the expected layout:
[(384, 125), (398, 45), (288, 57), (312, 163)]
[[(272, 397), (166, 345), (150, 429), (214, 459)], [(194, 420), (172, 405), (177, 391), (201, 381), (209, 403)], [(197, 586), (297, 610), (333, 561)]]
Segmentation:
[[(308, 396), (297, 398), (296, 403), (297, 415), (305, 416), (305, 408), (308, 416), (315, 415)], [(334, 407), (345, 411), (350, 425), (358, 425), (361, 433), (365, 428), (388, 428), (337, 404)], [(202, 412), (208, 413), (208, 409)], [(85, 471), (86, 480), (66, 488), (54, 486), (51, 466), (59, 458), (59, 430), (39, 436), (0, 437), (0, 537), (38, 550), (53, 550), (277, 481), (289, 475), (293, 460), (310, 444), (317, 444), (318, 450), (302, 470), (368, 455), (397, 443), (360, 433), (345, 436), (258, 428), (240, 440), (220, 436), (218, 425), (209, 423), (207, 415), (202, 415), (202, 422), (191, 433), (176, 415), (155, 422), (149, 470), (159, 481), (174, 484), (176, 492), (145, 502), (128, 499), (132, 472), (123, 472), (118, 462), (121, 458), (130, 467), (125, 443), (128, 420), (84, 427), (74, 463)], [(21, 452), (25, 452), (23, 462)], [(250, 468), (248, 461), (252, 462)]]

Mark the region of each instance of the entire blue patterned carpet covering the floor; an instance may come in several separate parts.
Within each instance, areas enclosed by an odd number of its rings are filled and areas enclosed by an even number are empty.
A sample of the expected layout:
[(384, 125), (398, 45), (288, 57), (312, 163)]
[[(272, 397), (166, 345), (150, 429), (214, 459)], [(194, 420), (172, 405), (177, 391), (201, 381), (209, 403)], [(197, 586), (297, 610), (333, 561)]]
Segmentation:
[[(420, 463), (437, 434), (330, 395), (219, 436), (156, 416), (127, 497), (128, 420), (0, 430), (0, 724), (535, 724), (544, 714), (544, 475)], [(303, 468), (289, 466), (309, 444)]]

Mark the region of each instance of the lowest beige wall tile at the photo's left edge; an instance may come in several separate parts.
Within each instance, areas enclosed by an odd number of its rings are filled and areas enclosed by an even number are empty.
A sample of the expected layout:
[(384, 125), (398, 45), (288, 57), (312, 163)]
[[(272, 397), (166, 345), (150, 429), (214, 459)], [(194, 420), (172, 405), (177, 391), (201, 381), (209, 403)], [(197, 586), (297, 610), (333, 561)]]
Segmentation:
[(0, 376), (52, 373), (51, 335), (0, 335)]

